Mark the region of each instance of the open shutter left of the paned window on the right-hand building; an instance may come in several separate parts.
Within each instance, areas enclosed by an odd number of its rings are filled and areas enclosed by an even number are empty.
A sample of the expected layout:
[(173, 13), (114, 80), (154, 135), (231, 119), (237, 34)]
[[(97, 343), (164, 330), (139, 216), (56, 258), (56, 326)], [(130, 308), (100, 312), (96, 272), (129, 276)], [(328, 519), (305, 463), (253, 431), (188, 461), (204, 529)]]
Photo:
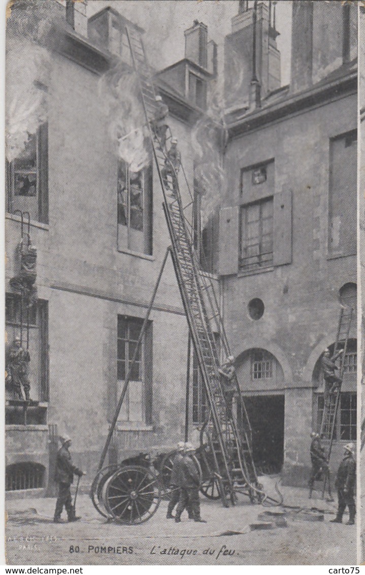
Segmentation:
[(238, 271), (239, 206), (222, 208), (219, 217), (219, 275)]

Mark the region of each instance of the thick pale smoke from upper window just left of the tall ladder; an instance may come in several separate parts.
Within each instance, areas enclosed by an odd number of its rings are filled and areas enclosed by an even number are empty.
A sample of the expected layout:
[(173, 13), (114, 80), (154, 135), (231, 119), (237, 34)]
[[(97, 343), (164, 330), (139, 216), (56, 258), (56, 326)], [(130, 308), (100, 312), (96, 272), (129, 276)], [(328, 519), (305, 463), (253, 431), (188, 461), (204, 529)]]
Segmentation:
[(99, 97), (118, 156), (132, 172), (141, 170), (150, 159), (149, 130), (136, 73), (118, 62), (101, 77)]

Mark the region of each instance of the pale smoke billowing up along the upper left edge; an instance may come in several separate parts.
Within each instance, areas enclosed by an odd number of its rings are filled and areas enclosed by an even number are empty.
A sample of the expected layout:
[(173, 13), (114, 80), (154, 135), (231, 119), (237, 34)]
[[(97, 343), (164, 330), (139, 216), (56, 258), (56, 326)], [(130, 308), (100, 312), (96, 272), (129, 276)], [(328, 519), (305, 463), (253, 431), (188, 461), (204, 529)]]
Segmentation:
[[(51, 58), (44, 44), (61, 21), (53, 0), (16, 0), (6, 28), (6, 158), (17, 158), (47, 120)], [(43, 85), (43, 89), (41, 86)]]

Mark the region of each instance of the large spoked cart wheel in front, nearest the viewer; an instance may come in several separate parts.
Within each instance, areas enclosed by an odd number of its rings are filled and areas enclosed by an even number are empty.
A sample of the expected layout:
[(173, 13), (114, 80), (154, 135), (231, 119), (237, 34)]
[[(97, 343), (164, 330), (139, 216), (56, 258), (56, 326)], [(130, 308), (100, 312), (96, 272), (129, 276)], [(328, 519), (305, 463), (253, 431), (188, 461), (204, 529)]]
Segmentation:
[(126, 465), (107, 479), (102, 499), (114, 520), (135, 525), (147, 521), (157, 511), (160, 486), (150, 469)]

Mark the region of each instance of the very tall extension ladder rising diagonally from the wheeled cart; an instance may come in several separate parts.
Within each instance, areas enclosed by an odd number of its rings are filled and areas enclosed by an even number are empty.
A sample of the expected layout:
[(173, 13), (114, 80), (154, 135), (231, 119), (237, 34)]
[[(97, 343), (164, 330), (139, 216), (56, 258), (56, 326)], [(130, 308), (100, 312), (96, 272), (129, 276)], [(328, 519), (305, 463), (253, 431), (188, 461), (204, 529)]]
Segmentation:
[[(252, 458), (251, 427), (236, 375), (235, 385), (241, 402), (240, 430), (233, 416), (226, 410), (221, 377), (218, 372), (220, 367), (218, 349), (210, 324), (213, 320), (220, 335), (222, 350), (226, 355), (230, 355), (217, 297), (212, 282), (199, 272), (199, 261), (193, 243), (193, 227), (185, 216), (187, 206), (184, 208), (182, 204), (177, 174), (175, 173), (173, 192), (167, 185), (166, 177), (165, 181), (162, 178), (162, 169), (169, 160), (151, 127), (156, 111), (156, 94), (152, 75), (140, 35), (134, 29), (127, 29), (127, 34), (133, 66), (139, 78), (144, 112), (151, 133), (153, 156), (163, 191), (163, 209), (172, 242), (172, 260), (210, 408), (209, 418), (203, 429), (203, 442), (213, 456), (214, 476), (218, 483), (222, 503), (228, 505), (230, 499), (234, 504), (235, 492), (247, 494), (251, 501), (256, 498), (260, 500), (263, 492), (258, 483)], [(174, 171), (172, 164), (171, 168)], [(188, 205), (191, 205), (191, 202)]]

